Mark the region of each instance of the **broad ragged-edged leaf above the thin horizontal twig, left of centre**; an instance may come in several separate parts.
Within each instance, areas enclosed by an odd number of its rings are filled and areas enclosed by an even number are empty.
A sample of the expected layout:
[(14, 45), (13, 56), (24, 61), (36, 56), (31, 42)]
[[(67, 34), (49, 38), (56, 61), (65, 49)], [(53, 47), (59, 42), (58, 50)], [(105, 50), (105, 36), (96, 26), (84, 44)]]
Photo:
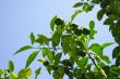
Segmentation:
[(49, 39), (44, 36), (44, 35), (37, 35), (37, 39), (35, 40), (36, 42), (38, 42), (39, 44), (47, 44), (49, 43)]

